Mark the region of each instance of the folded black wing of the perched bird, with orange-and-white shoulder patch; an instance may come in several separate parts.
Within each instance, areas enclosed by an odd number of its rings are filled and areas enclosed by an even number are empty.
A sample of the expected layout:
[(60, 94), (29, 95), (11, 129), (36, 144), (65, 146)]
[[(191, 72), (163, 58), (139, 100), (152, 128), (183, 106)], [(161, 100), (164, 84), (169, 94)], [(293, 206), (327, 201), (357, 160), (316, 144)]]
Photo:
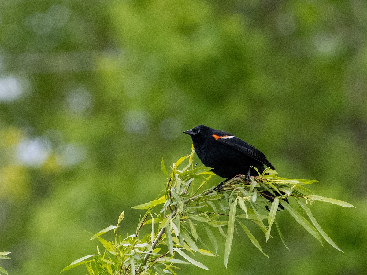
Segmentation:
[(261, 153), (260, 150), (248, 144), (247, 142), (244, 142), (243, 140), (239, 139), (236, 136), (230, 138), (218, 138), (217, 141), (227, 146), (231, 146), (236, 150), (240, 151), (241, 153), (244, 153), (249, 157), (256, 159), (257, 161), (263, 163), (266, 167), (275, 169), (275, 167), (272, 164), (270, 164), (270, 162), (266, 159), (265, 155)]

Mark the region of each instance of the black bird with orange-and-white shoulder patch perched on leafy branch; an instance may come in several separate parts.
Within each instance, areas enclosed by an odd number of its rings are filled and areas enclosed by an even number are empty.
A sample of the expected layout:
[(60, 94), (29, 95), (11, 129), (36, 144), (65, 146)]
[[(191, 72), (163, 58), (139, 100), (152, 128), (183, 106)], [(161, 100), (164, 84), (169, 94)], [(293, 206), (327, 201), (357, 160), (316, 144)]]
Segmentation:
[[(247, 181), (250, 176), (257, 176), (266, 167), (275, 167), (266, 159), (265, 155), (257, 148), (244, 142), (231, 133), (212, 129), (205, 125), (198, 125), (185, 131), (192, 138), (196, 154), (201, 162), (212, 168), (212, 172), (225, 179), (232, 179), (237, 175), (246, 175)], [(221, 184), (218, 186), (220, 192)], [(269, 201), (273, 201), (272, 194), (262, 192), (267, 195)], [(270, 197), (268, 197), (270, 196)]]

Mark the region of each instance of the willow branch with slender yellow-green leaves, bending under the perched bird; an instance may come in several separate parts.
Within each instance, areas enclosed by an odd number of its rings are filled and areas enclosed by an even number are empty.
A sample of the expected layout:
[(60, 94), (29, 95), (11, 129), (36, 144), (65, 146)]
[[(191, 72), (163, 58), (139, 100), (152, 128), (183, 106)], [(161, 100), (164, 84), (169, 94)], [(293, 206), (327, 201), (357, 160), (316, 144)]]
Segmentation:
[[(218, 257), (218, 243), (212, 232), (213, 228), (217, 229), (226, 240), (224, 264), (227, 267), (233, 235), (237, 231), (236, 225), (240, 225), (250, 241), (268, 257), (246, 224), (255, 223), (264, 232), (266, 242), (272, 237), (271, 230), (275, 224), (281, 241), (287, 247), (276, 220), (276, 214), (282, 209), (290, 213), (321, 244), (323, 237), (330, 245), (342, 251), (321, 229), (308, 205), (312, 205), (315, 201), (334, 203), (343, 207), (353, 205), (315, 195), (305, 188), (305, 185), (315, 183), (315, 180), (284, 179), (271, 169), (265, 169), (264, 173), (251, 177), (251, 182), (247, 182), (243, 175), (238, 175), (223, 184), (224, 194), (219, 194), (215, 191), (216, 186), (204, 188), (210, 184), (210, 178), (214, 174), (210, 168), (194, 165), (194, 153), (192, 148), (189, 155), (178, 159), (171, 167), (170, 173), (162, 159), (161, 170), (167, 176), (164, 195), (154, 201), (132, 207), (146, 209), (146, 213), (139, 220), (135, 234), (124, 239), (121, 235), (117, 236), (117, 229), (124, 217), (124, 212), (121, 213), (117, 225), (110, 225), (91, 238), (91, 240), (98, 239), (104, 247), (103, 253), (97, 246), (98, 254), (82, 257), (61, 272), (81, 264), (86, 266), (90, 275), (167, 273), (175, 275), (174, 269), (179, 268), (180, 264), (192, 264), (208, 269), (187, 253), (195, 255), (194, 252), (198, 252)], [(288, 204), (287, 199), (296, 201), (313, 225)], [(153, 212), (159, 205), (163, 205), (160, 211)], [(199, 224), (204, 227), (212, 249), (202, 241), (203, 236), (198, 234)], [(150, 230), (143, 235), (142, 228), (147, 228), (148, 225)], [(101, 235), (111, 230), (115, 233), (114, 241), (101, 238)], [(199, 248), (198, 243), (206, 249)]]

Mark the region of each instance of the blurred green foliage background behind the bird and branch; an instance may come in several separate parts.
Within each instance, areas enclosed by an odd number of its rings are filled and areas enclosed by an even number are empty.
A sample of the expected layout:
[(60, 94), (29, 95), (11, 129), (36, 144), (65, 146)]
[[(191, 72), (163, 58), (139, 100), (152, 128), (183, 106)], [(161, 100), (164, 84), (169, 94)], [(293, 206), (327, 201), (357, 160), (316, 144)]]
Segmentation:
[(251, 227), (269, 259), (243, 234), (228, 270), (179, 274), (367, 274), (366, 18), (363, 0), (1, 0), (0, 265), (58, 274), (123, 210), (135, 232), (162, 155), (206, 124), (356, 208), (312, 207), (344, 254), (280, 213), (290, 252)]

